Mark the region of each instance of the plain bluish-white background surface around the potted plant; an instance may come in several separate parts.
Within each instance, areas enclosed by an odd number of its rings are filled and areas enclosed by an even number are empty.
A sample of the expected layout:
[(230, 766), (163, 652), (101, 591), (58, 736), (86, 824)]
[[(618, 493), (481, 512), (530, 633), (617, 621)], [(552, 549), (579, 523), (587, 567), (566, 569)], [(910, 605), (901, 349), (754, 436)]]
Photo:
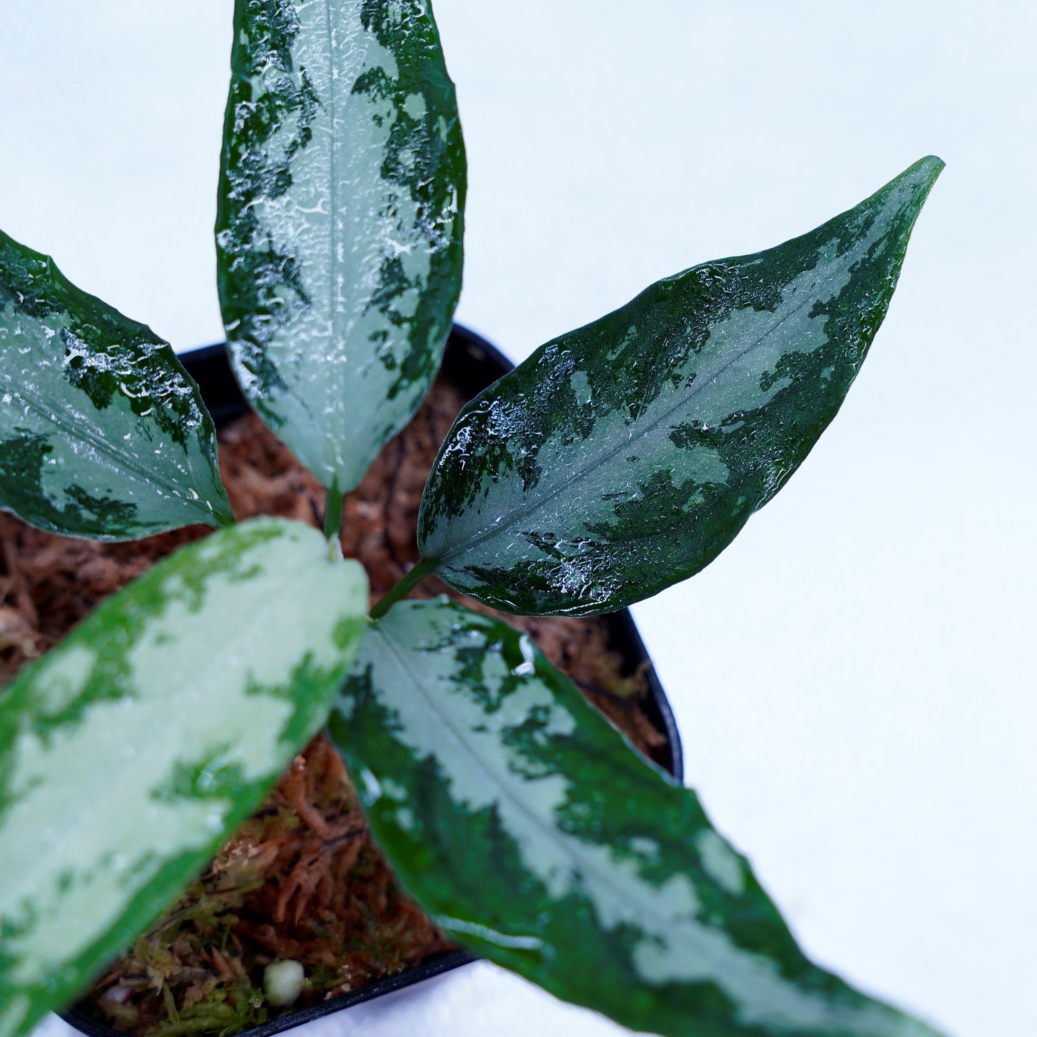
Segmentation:
[[(0, 8), (0, 226), (177, 348), (222, 337), (230, 10)], [(808, 950), (957, 1037), (1037, 1033), (1037, 7), (437, 11), (471, 170), (458, 319), (515, 360), (947, 160), (820, 445), (720, 560), (635, 611), (689, 782)], [(315, 1030), (618, 1033), (485, 965)]]

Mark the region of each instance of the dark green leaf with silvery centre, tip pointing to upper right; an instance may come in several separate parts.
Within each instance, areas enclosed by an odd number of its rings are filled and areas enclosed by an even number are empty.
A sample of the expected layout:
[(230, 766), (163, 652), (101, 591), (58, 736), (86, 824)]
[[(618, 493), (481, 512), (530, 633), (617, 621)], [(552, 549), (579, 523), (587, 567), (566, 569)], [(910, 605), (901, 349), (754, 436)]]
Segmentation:
[(447, 437), (422, 555), (457, 590), (532, 614), (611, 612), (707, 565), (835, 417), (943, 165), (541, 346)]

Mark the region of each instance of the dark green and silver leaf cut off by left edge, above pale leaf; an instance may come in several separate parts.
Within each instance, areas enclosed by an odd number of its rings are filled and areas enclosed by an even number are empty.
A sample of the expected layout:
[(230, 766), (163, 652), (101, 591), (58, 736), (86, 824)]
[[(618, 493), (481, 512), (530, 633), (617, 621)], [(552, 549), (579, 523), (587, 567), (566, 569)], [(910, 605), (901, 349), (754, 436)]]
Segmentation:
[(3, 232), (0, 507), (96, 540), (232, 521), (213, 420), (173, 351)]

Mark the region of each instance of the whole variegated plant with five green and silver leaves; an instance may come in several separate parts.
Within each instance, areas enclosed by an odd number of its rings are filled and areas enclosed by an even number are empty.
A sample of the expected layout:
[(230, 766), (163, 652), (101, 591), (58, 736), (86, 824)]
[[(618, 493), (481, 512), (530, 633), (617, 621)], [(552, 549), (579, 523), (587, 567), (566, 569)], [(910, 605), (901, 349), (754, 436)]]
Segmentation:
[(216, 532), (0, 698), (0, 1037), (75, 999), (327, 726), (431, 917), (560, 998), (671, 1037), (935, 1031), (813, 965), (695, 793), (505, 612), (595, 615), (708, 564), (838, 411), (943, 163), (695, 267), (465, 408), (422, 561), (368, 616), (342, 497), (416, 411), (457, 301), (466, 163), (424, 0), (237, 0), (219, 288), (234, 373), (328, 487), (326, 537), (234, 525), (168, 344), (0, 235), (0, 505), (124, 540)]

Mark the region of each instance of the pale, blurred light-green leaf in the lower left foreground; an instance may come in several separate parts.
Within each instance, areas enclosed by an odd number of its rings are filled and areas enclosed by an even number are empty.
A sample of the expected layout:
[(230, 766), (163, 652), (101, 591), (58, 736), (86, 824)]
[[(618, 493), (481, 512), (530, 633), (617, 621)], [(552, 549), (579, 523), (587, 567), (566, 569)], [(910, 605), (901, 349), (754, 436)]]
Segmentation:
[(194, 543), (0, 695), (0, 1037), (142, 932), (320, 727), (366, 623), (299, 523)]

